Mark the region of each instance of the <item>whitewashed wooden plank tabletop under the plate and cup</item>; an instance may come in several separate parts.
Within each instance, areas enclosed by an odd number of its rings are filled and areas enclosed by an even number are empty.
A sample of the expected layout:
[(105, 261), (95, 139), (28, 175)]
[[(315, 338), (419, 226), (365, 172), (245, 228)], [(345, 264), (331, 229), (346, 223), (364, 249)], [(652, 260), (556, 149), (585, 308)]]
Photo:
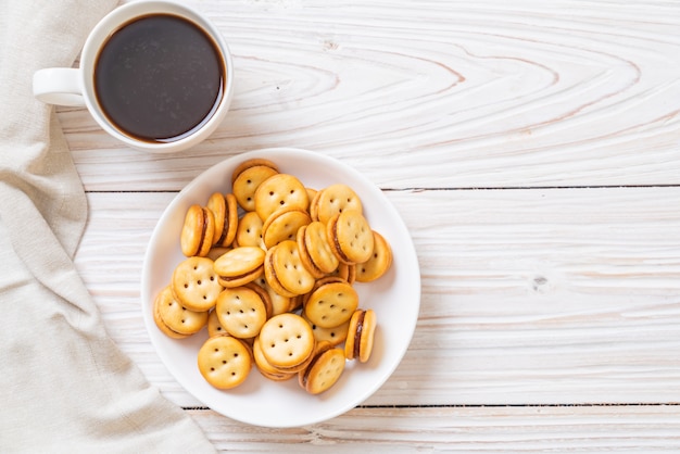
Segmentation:
[[(152, 156), (84, 110), (59, 118), (90, 204), (77, 266), (106, 328), (217, 449), (680, 451), (680, 2), (190, 4), (235, 56), (212, 139)], [(391, 379), (299, 429), (202, 406), (140, 311), (146, 247), (177, 191), (268, 147), (383, 189), (423, 277)]]

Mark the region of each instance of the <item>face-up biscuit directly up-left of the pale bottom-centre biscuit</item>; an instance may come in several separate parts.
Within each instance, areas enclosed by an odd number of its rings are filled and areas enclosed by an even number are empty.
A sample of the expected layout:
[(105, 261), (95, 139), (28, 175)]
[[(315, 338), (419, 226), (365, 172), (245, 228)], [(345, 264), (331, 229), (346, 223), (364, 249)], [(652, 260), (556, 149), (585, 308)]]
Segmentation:
[(247, 287), (225, 289), (215, 305), (217, 319), (235, 338), (249, 339), (260, 333), (267, 308), (260, 294)]

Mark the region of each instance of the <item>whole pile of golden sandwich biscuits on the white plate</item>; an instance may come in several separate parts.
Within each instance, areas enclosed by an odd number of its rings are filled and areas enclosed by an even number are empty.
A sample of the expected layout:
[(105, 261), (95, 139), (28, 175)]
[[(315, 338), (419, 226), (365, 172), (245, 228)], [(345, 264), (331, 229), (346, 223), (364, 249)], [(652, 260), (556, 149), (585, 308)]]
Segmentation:
[(175, 339), (206, 327), (198, 367), (215, 388), (237, 387), (256, 367), (322, 393), (347, 361), (370, 357), (376, 314), (361, 307), (354, 283), (390, 268), (390, 244), (347, 185), (308, 188), (252, 159), (229, 189), (187, 210), (186, 260), (154, 301), (155, 324)]

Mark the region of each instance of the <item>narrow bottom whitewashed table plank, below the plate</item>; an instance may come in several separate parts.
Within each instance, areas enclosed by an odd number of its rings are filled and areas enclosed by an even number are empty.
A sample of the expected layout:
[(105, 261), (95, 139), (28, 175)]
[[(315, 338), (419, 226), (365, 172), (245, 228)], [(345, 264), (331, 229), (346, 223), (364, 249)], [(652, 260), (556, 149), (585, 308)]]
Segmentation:
[(269, 430), (190, 411), (222, 452), (677, 452), (672, 406), (355, 408), (327, 423)]

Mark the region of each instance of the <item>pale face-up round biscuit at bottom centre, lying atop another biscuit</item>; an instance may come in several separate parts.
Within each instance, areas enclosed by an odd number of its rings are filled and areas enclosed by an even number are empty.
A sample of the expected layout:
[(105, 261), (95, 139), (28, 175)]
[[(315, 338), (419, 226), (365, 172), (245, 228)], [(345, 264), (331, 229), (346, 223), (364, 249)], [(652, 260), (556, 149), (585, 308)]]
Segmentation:
[(314, 332), (300, 315), (286, 313), (269, 318), (260, 330), (262, 353), (274, 367), (304, 363), (314, 351)]

